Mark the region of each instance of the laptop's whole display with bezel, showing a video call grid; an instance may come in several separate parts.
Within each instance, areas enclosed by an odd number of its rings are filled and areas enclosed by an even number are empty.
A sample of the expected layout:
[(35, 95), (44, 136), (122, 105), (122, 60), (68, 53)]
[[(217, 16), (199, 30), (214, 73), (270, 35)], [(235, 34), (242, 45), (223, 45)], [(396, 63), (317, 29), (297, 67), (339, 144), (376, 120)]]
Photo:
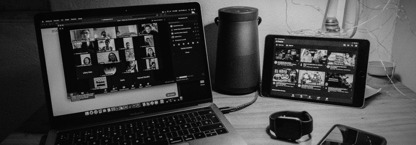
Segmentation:
[(58, 13), (37, 19), (53, 116), (100, 116), (212, 98), (199, 5)]

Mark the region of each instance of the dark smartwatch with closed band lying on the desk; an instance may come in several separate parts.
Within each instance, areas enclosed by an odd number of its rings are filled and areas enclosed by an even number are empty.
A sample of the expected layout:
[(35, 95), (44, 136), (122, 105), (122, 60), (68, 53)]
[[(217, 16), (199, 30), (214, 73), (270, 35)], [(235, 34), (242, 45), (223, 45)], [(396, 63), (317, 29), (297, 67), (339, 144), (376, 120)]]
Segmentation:
[(270, 131), (279, 138), (298, 140), (312, 133), (312, 116), (307, 111), (279, 111), (270, 115)]

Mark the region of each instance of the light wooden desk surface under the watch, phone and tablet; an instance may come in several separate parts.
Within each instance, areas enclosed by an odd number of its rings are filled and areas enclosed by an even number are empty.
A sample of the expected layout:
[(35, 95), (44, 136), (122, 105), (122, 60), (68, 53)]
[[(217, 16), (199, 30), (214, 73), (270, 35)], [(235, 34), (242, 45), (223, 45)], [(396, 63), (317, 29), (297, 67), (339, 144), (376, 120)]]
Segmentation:
[[(401, 83), (396, 83), (396, 86), (407, 96), (416, 97), (415, 92)], [(251, 101), (254, 93), (228, 96), (213, 92), (213, 97), (218, 107), (238, 106)], [(379, 93), (370, 97), (365, 102), (364, 109), (259, 97), (251, 106), (225, 114), (225, 116), (249, 145), (295, 144), (274, 140), (265, 132), (265, 128), (269, 125), (269, 115), (284, 110), (305, 110), (314, 119), (312, 138), (301, 142), (301, 145), (316, 145), (334, 124), (343, 124), (384, 136), (387, 143), (391, 145), (414, 145), (416, 143), (416, 101), (401, 95), (393, 85), (384, 86)], [(42, 135), (45, 134), (16, 131), (9, 135), (1, 145), (38, 144)]]

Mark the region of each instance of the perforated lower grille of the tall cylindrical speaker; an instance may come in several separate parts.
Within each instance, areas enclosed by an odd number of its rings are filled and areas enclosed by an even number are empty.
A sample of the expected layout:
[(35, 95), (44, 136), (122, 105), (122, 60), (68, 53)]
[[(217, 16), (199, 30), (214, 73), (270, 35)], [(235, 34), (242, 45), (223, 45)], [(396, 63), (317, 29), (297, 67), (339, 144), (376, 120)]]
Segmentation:
[[(255, 53), (249, 56), (225, 56), (225, 62), (217, 70), (216, 83), (224, 87), (246, 88), (258, 85), (260, 78), (259, 55)], [(217, 68), (218, 69), (218, 68)]]

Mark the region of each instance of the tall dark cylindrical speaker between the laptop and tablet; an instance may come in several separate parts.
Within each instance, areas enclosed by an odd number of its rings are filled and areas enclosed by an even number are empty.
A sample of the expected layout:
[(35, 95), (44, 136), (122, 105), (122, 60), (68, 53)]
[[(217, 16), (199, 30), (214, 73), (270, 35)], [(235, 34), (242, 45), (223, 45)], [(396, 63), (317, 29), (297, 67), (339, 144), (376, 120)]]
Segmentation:
[(220, 92), (248, 94), (260, 84), (258, 9), (224, 7), (218, 10), (215, 85)]

